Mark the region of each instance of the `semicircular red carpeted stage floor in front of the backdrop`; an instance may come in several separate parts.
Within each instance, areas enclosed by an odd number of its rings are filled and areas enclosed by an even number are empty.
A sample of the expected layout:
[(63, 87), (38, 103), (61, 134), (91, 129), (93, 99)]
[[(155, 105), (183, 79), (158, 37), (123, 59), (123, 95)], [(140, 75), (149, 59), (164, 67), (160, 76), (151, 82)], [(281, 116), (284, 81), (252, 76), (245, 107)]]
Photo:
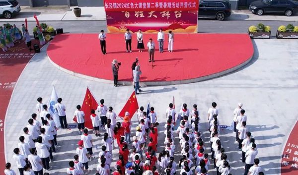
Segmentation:
[[(48, 47), (48, 56), (60, 69), (76, 76), (112, 80), (111, 62), (122, 62), (120, 81), (132, 81), (131, 65), (139, 58), (143, 72), (141, 81), (148, 84), (180, 84), (213, 78), (233, 71), (253, 56), (253, 45), (247, 34), (175, 34), (174, 51), (158, 52), (157, 34), (144, 34), (155, 43), (155, 62), (148, 62), (148, 52), (137, 51), (133, 35), (133, 53), (126, 53), (124, 34), (107, 35), (107, 55), (102, 55), (98, 34), (58, 35)], [(167, 40), (167, 35), (166, 40)], [(147, 47), (146, 47), (147, 49)], [(84, 76), (86, 75), (86, 76)]]

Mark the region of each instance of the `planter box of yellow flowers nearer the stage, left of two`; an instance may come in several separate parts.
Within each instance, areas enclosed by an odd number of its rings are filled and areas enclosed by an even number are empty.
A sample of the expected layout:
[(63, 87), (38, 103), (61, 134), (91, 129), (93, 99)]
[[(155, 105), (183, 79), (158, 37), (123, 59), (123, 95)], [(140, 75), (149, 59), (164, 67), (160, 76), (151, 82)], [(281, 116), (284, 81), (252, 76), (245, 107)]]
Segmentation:
[(262, 23), (259, 23), (256, 26), (250, 26), (248, 28), (248, 35), (250, 38), (270, 38), (271, 27), (265, 26)]

